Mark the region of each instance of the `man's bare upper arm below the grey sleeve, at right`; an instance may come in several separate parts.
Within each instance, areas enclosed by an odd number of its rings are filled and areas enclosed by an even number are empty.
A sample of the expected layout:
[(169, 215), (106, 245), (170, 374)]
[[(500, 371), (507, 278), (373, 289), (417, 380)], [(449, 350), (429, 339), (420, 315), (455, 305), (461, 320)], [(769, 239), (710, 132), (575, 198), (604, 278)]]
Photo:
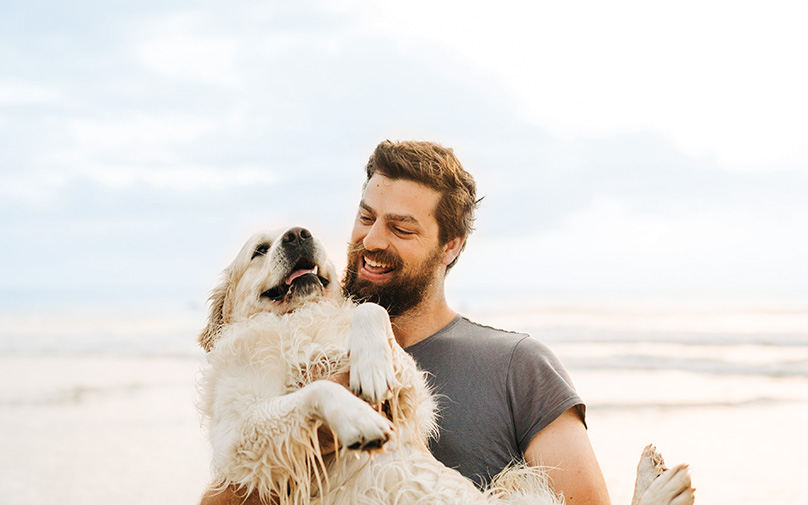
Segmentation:
[(549, 467), (550, 483), (567, 505), (609, 505), (609, 492), (586, 427), (575, 407), (537, 433), (525, 451), (529, 465)]

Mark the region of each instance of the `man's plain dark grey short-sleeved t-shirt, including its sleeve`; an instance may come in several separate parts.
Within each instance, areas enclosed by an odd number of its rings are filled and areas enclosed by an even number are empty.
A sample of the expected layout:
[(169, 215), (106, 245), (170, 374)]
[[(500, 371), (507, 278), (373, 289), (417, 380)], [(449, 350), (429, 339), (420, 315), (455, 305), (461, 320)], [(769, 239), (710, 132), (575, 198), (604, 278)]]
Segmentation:
[(533, 436), (571, 407), (585, 406), (561, 362), (523, 333), (457, 316), (438, 333), (405, 349), (429, 372), (438, 395), (440, 434), (430, 444), (450, 468), (487, 484)]

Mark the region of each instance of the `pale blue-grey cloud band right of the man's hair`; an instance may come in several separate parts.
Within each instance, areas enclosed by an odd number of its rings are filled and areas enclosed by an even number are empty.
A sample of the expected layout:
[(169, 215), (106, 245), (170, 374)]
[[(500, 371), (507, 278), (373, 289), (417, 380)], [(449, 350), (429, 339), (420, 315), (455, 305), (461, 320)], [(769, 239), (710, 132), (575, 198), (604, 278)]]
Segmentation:
[(511, 138), (471, 143), (458, 152), (468, 156), (470, 169), (491, 169), (479, 176), (486, 199), (478, 225), (498, 236), (559, 226), (604, 200), (660, 220), (737, 209), (779, 219), (804, 209), (800, 195), (808, 191), (804, 172), (726, 170), (649, 133), (564, 140), (524, 127)]

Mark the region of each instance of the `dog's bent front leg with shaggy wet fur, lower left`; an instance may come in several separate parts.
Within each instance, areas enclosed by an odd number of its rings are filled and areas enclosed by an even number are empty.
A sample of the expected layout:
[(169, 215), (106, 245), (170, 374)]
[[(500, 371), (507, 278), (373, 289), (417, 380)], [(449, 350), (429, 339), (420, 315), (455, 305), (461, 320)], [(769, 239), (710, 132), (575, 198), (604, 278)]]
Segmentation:
[(249, 495), (257, 492), (270, 503), (307, 503), (307, 497), (322, 489), (318, 421), (349, 449), (381, 448), (393, 433), (384, 416), (328, 380), (282, 396), (255, 398), (230, 414), (240, 417), (237, 432), (227, 429), (232, 424), (212, 425), (213, 453), (221, 456), (214, 461), (218, 484), (241, 487)]

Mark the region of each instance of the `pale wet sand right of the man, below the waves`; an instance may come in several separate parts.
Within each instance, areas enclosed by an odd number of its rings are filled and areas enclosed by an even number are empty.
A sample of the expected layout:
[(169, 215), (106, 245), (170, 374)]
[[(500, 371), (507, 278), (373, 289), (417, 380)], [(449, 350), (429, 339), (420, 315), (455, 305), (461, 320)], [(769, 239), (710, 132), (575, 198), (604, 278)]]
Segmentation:
[[(805, 379), (762, 384), (689, 373), (578, 372), (574, 380), (590, 402), (589, 433), (614, 504), (631, 502), (639, 450), (649, 443), (668, 466), (690, 465), (696, 503), (801, 503), (808, 496)], [(618, 403), (614, 390), (624, 387), (659, 396)], [(747, 387), (746, 398), (732, 399)], [(702, 400), (713, 394), (714, 401)]]

